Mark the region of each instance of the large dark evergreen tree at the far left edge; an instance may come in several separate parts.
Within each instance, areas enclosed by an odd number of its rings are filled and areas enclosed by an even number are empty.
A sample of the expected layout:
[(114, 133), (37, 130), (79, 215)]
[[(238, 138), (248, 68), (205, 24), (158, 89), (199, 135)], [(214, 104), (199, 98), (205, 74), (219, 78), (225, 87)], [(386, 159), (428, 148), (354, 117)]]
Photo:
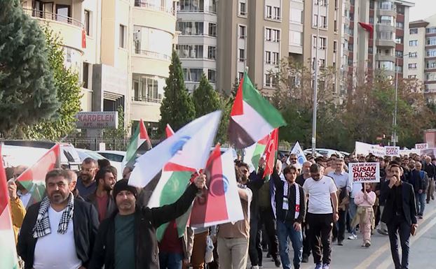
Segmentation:
[(0, 0), (0, 33), (0, 131), (11, 136), (50, 119), (60, 103), (46, 37), (19, 0)]

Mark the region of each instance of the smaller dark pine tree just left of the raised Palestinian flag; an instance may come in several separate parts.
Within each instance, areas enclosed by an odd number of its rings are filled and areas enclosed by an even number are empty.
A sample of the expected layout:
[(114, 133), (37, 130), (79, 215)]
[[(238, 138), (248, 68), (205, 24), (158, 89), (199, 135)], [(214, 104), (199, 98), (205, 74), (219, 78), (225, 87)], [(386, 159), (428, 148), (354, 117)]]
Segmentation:
[(201, 117), (207, 113), (219, 110), (221, 107), (221, 100), (219, 94), (215, 91), (207, 81), (205, 73), (201, 75), (200, 85), (194, 89), (193, 104), (196, 108), (196, 117)]

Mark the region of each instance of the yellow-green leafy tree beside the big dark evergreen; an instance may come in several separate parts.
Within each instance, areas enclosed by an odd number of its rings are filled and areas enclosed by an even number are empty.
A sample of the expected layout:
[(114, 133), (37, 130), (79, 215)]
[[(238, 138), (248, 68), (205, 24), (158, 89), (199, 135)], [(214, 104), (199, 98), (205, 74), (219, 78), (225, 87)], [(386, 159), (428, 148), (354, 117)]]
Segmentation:
[(64, 66), (62, 41), (48, 27), (43, 28), (49, 50), (48, 61), (53, 71), (57, 100), (61, 103), (55, 119), (42, 119), (41, 122), (25, 129), (25, 136), (33, 139), (57, 140), (75, 129), (76, 114), (81, 110), (81, 85), (79, 75)]

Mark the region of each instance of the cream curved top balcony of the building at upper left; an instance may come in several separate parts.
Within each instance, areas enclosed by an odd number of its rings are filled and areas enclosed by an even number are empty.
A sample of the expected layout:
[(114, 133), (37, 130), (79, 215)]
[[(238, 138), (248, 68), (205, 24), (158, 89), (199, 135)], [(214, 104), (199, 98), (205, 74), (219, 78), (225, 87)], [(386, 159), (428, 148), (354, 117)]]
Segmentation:
[(83, 53), (82, 31), (83, 23), (73, 17), (51, 13), (48, 11), (36, 10), (32, 8), (22, 8), (29, 16), (34, 17), (39, 22), (48, 24), (48, 27), (59, 34), (63, 45), (74, 48)]

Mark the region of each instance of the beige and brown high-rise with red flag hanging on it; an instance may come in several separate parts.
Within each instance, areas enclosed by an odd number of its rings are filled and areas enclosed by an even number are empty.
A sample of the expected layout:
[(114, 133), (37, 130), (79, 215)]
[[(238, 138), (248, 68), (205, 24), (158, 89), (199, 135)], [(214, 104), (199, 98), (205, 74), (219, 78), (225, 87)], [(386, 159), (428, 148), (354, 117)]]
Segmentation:
[[(346, 0), (342, 70), (348, 87), (362, 82), (376, 69), (391, 77), (395, 71), (403, 76), (412, 6), (414, 3), (403, 0)], [(372, 26), (372, 36), (359, 22)]]

